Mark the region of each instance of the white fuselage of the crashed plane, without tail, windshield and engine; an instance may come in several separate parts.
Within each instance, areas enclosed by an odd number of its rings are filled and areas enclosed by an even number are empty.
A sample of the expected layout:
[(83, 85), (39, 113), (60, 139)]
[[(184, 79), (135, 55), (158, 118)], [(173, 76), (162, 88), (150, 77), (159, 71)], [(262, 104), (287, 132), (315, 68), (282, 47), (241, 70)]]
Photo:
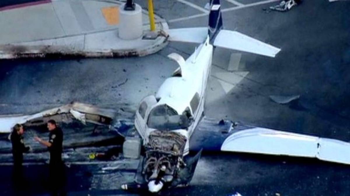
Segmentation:
[[(186, 136), (187, 143), (184, 155), (188, 153), (189, 139), (201, 120), (204, 110), (205, 90), (211, 69), (212, 54), (213, 46), (209, 44), (209, 38), (207, 38), (186, 60), (186, 63), (182, 65), (179, 63), (181, 76), (167, 78), (160, 86), (155, 97), (148, 96), (141, 101), (135, 118), (135, 126), (144, 139), (144, 144), (147, 144), (149, 134), (156, 130), (147, 125), (152, 109), (160, 105), (167, 105), (175, 110), (177, 114), (190, 111), (193, 117), (193, 122), (187, 129), (171, 130)], [(147, 110), (145, 111), (144, 118), (142, 118), (143, 115), (140, 114), (140, 107), (142, 104), (145, 105), (143, 103), (145, 101), (147, 102)]]

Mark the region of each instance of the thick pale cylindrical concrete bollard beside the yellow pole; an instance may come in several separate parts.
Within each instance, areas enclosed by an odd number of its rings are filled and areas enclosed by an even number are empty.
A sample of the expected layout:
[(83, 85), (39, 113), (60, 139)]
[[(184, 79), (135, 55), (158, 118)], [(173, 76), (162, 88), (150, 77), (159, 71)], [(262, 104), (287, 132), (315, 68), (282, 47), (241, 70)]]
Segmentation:
[(125, 3), (119, 8), (119, 38), (137, 39), (142, 36), (142, 8), (135, 3), (135, 10), (124, 10)]

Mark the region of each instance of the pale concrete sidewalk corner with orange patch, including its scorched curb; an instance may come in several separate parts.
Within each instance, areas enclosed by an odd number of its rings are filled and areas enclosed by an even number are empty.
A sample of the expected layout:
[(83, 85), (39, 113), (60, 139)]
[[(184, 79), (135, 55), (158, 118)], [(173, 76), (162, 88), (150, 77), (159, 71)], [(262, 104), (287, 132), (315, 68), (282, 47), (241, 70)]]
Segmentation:
[[(54, 0), (0, 12), (0, 59), (72, 55), (144, 56), (167, 44), (168, 25), (155, 16), (154, 40), (118, 37), (120, 1)], [(142, 10), (143, 35), (149, 18)]]

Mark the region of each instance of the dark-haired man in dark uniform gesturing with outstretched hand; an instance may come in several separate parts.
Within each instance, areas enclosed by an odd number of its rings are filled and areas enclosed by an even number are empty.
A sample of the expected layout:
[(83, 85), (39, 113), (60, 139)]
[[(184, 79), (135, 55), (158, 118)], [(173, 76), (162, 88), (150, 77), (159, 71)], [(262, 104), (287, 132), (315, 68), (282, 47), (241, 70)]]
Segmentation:
[(61, 128), (57, 127), (54, 120), (48, 121), (47, 128), (50, 131), (49, 141), (44, 141), (37, 136), (34, 137), (34, 140), (47, 146), (50, 152), (49, 175), (52, 195), (66, 195), (64, 192), (65, 176), (62, 162), (63, 132)]

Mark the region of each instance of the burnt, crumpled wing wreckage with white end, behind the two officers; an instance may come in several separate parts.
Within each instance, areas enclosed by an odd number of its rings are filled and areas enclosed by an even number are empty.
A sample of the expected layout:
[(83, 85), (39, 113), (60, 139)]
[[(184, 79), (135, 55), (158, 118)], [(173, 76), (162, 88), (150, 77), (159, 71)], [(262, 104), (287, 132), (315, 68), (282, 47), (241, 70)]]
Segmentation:
[(57, 122), (70, 122), (72, 119), (77, 119), (84, 124), (91, 122), (97, 125), (110, 125), (114, 113), (114, 110), (110, 109), (98, 108), (89, 104), (72, 103), (31, 115), (0, 115), (0, 133), (10, 133), (16, 123), (25, 126), (40, 126), (50, 119)]

